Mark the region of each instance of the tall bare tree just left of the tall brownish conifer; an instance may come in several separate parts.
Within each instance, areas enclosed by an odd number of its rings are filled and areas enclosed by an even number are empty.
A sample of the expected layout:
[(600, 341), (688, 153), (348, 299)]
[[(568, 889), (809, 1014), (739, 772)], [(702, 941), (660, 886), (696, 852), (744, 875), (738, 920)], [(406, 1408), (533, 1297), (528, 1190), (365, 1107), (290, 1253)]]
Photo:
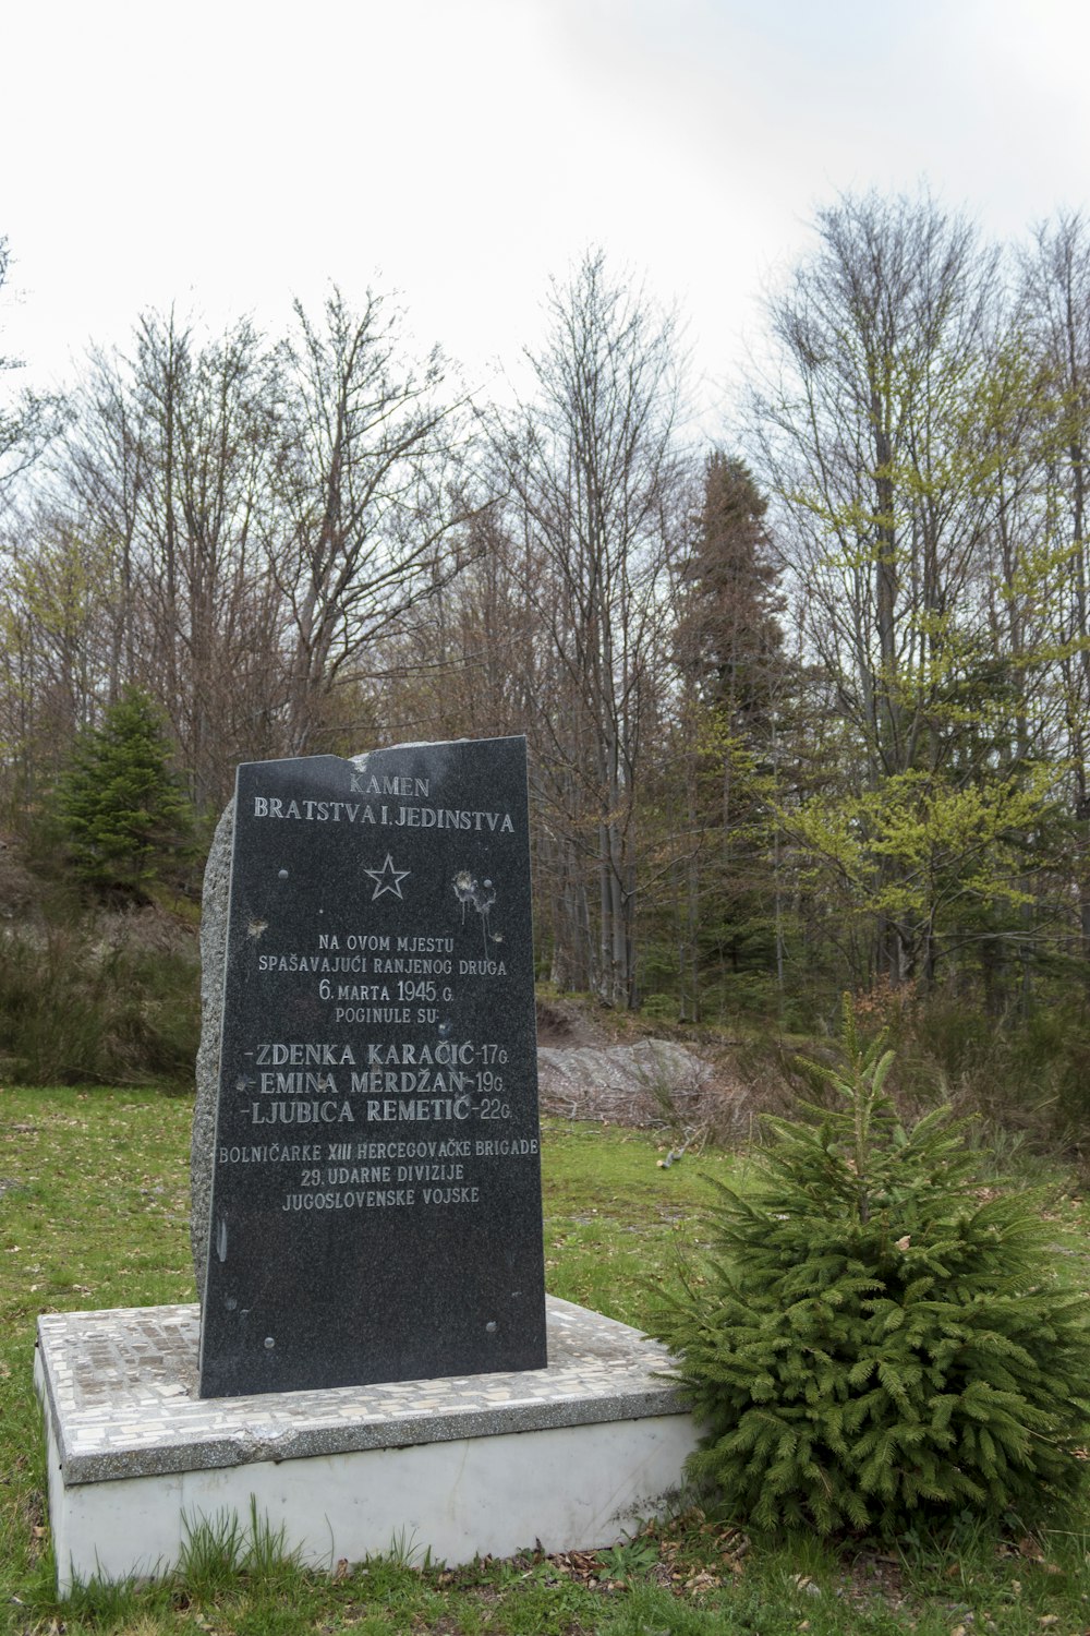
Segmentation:
[(552, 285), (549, 317), (529, 357), (534, 396), (495, 447), (551, 672), (534, 735), (556, 846), (556, 975), (628, 1006), (637, 779), (681, 494), (677, 335), (610, 280), (600, 252)]

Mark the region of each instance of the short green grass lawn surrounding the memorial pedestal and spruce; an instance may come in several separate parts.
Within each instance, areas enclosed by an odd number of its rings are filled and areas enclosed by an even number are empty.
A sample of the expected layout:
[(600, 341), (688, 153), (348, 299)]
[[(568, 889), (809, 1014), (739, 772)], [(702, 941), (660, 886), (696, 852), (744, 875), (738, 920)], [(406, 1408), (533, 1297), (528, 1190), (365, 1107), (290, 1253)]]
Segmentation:
[[(31, 1386), (42, 1310), (191, 1301), (191, 1103), (154, 1091), (0, 1091), (0, 1631), (293, 1636), (1083, 1636), (1090, 1507), (1039, 1538), (969, 1520), (943, 1538), (835, 1551), (812, 1536), (750, 1539), (698, 1510), (590, 1556), (533, 1549), (446, 1569), (391, 1541), (340, 1574), (284, 1561), (240, 1520), (198, 1531), (168, 1582), (52, 1589), (39, 1412)], [(706, 1176), (744, 1162), (706, 1152), (668, 1170), (654, 1137), (552, 1122), (544, 1134), (546, 1274), (552, 1294), (641, 1324), (680, 1243), (699, 1240)], [(1056, 1209), (1083, 1224), (1057, 1181)]]

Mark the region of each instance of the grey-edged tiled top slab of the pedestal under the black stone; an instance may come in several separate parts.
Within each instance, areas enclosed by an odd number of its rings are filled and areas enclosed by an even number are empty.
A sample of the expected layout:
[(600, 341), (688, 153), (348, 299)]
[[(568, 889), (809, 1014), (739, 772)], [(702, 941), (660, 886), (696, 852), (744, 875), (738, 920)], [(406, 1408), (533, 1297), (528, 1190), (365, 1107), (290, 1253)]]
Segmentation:
[(46, 1414), (69, 1487), (686, 1414), (668, 1353), (585, 1307), (546, 1302), (544, 1369), (201, 1399), (199, 1309), (114, 1307), (38, 1320)]

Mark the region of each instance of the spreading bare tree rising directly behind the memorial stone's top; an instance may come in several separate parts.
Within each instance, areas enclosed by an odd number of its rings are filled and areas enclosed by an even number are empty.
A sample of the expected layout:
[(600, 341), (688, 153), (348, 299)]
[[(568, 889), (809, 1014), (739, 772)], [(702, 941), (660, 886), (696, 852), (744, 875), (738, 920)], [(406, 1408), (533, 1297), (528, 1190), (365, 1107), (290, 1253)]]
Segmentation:
[(443, 584), (444, 542), (472, 510), (443, 358), (404, 360), (399, 327), (382, 296), (368, 293), (353, 312), (333, 290), (320, 324), (296, 303), (296, 335), (281, 348), (284, 533), (268, 561), (289, 610), (294, 754), (317, 748), (338, 679)]

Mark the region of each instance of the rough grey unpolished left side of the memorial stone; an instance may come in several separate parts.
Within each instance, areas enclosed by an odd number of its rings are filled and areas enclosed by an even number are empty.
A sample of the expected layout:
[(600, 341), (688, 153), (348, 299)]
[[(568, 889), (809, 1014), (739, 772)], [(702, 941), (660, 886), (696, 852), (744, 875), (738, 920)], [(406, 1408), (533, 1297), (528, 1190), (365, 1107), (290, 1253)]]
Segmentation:
[(224, 1031), (224, 970), (227, 965), (234, 838), (235, 803), (230, 800), (216, 825), (201, 893), (201, 1044), (196, 1054), (196, 1101), (190, 1140), (190, 1245), (198, 1301), (204, 1301), (208, 1224), (212, 1211), (212, 1145), (219, 1104), (219, 1049)]

